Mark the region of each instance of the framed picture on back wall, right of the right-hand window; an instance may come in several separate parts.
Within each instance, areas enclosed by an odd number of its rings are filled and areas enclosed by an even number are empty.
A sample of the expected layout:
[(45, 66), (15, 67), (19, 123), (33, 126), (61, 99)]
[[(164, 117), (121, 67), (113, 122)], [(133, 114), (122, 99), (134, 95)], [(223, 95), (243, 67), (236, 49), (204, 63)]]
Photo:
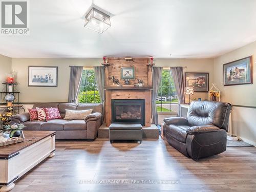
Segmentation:
[(185, 73), (185, 87), (194, 87), (194, 92), (208, 92), (209, 73)]

